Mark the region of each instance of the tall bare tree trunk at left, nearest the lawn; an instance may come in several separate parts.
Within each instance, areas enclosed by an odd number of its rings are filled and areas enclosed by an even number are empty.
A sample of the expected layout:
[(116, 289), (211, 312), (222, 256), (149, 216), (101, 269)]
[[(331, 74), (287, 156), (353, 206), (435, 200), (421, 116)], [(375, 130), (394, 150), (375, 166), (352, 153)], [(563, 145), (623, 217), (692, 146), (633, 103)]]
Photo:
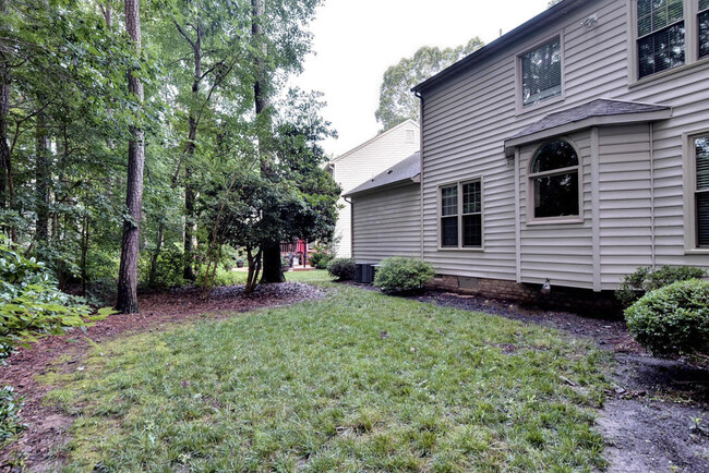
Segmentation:
[[(125, 31), (133, 40), (135, 52), (141, 50), (140, 0), (125, 0)], [(143, 104), (143, 84), (133, 73), (128, 75), (128, 89)], [(128, 182), (125, 207), (130, 218), (123, 220), (121, 265), (118, 274), (118, 301), (116, 308), (131, 314), (137, 308), (137, 253), (141, 231), (141, 207), (143, 205), (143, 165), (145, 148), (143, 131), (131, 126), (132, 137), (128, 143)]]

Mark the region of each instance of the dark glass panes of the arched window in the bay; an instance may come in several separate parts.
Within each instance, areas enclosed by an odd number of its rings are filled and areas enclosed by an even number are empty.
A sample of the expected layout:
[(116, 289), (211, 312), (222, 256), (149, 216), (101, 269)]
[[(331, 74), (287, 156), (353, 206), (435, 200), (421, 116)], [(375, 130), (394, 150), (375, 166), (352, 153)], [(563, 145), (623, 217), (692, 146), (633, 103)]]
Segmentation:
[(579, 215), (579, 165), (576, 149), (563, 140), (542, 145), (529, 166), (533, 218)]

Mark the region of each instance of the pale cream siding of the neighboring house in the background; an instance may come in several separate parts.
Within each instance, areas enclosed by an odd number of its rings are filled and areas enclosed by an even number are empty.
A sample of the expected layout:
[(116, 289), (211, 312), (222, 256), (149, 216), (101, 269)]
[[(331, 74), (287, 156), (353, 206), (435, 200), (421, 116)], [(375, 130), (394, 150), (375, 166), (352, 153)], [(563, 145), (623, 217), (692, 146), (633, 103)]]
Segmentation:
[[(413, 141), (407, 142), (407, 131), (413, 131)], [(418, 151), (419, 147), (419, 125), (411, 120), (407, 120), (402, 124), (336, 158), (333, 161), (333, 178), (343, 187), (343, 194), (347, 194), (363, 184), (368, 179), (374, 178), (376, 174), (408, 158)], [(335, 237), (339, 239), (336, 253), (340, 257), (350, 257), (352, 247), (350, 204), (340, 198), (338, 205), (341, 208), (335, 227)]]

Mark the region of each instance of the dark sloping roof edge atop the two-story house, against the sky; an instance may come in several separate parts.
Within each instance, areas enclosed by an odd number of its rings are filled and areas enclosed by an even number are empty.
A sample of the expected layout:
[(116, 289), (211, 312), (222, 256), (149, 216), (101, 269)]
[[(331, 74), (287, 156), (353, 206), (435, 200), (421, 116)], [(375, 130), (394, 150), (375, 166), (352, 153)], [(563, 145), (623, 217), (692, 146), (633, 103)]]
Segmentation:
[(540, 28), (544, 27), (544, 24), (549, 24), (564, 16), (567, 16), (575, 10), (596, 1), (598, 0), (562, 0), (555, 5), (546, 9), (544, 12), (538, 14), (533, 19), (527, 21), (520, 26), (517, 26), (512, 32), (501, 36), (486, 46), (483, 46), (477, 51), (466, 56), (449, 68), (446, 68), (443, 71), (438, 72), (436, 75), (429, 77), (428, 80), (418, 84), (411, 89), (411, 92), (419, 95), (425, 89), (441, 85), (448, 78), (474, 68), (482, 60), (504, 50), (505, 48), (514, 45), (516, 41), (524, 40), (529, 37), (529, 35), (538, 33)]

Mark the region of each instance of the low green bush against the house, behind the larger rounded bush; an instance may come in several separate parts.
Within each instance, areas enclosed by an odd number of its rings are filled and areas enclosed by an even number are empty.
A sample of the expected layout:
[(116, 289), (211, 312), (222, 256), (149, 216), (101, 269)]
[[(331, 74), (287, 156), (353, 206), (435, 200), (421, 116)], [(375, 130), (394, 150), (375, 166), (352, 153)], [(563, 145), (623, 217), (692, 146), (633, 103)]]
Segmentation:
[(621, 288), (615, 291), (623, 307), (629, 307), (635, 301), (650, 291), (687, 279), (701, 279), (707, 271), (692, 266), (664, 266), (652, 270), (649, 267), (640, 267), (632, 275), (626, 276)]

